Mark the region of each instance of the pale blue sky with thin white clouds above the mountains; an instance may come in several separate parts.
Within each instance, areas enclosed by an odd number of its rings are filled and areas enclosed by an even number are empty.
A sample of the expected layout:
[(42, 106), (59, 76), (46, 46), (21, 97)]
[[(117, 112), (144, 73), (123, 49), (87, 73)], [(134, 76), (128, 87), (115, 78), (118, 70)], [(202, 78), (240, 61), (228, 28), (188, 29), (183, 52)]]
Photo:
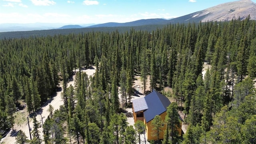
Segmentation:
[(0, 0), (0, 24), (100, 24), (176, 18), (232, 1), (236, 0)]

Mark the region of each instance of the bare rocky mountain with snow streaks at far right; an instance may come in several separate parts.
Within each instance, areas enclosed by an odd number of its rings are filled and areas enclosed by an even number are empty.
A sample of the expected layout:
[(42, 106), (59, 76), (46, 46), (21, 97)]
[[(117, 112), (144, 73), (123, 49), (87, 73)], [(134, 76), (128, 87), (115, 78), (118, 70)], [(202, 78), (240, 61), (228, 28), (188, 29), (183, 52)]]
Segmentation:
[(238, 0), (227, 2), (206, 8), (204, 10), (187, 14), (170, 20), (175, 22), (207, 22), (207, 21), (229, 21), (232, 19), (243, 20), (250, 15), (251, 20), (256, 20), (256, 4), (251, 0)]

